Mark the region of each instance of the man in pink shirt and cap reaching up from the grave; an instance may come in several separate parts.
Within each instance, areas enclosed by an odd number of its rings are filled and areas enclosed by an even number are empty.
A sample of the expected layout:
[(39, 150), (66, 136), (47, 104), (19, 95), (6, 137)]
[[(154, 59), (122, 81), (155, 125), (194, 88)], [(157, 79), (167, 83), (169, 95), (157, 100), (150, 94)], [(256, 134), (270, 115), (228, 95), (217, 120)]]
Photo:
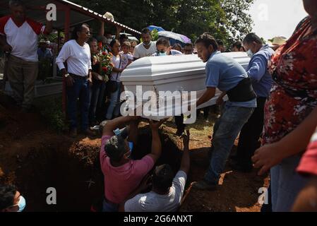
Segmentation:
[[(128, 141), (136, 143), (139, 117), (119, 117), (108, 121), (102, 132), (100, 164), (104, 174), (104, 212), (116, 212), (119, 203), (135, 191), (143, 177), (152, 169), (162, 153), (158, 133), (163, 121), (151, 121), (152, 151), (141, 160), (130, 160)], [(125, 129), (118, 131), (129, 124)], [(114, 133), (116, 131), (116, 135)], [(127, 139), (128, 138), (128, 139)]]

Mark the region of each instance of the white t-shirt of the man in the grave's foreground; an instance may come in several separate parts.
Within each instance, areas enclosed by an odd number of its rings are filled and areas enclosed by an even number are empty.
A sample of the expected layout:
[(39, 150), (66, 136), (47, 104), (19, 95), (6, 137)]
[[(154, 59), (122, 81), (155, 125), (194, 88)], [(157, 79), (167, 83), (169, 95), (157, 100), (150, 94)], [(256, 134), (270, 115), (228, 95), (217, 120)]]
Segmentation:
[(138, 194), (126, 201), (126, 212), (176, 212), (184, 195), (187, 175), (179, 171), (173, 180), (173, 185), (167, 195), (159, 195), (153, 191)]

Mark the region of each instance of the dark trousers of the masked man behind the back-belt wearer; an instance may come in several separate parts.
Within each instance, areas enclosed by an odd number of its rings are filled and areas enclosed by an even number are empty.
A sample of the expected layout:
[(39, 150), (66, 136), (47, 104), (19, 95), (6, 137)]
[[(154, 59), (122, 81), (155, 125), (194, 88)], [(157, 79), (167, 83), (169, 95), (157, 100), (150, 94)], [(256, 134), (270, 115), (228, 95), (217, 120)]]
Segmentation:
[(241, 129), (239, 145), (237, 149), (237, 160), (239, 165), (252, 167), (251, 157), (256, 149), (260, 148), (259, 138), (263, 131), (264, 105), (266, 97), (256, 99), (258, 107), (254, 109), (249, 121)]

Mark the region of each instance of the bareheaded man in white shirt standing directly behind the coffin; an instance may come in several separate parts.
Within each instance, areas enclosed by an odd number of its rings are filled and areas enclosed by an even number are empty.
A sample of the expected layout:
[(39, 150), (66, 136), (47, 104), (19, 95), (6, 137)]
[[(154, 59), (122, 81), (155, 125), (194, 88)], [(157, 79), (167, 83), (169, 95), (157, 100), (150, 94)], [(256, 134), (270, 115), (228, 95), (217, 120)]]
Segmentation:
[(133, 58), (135, 61), (142, 57), (150, 57), (157, 51), (156, 44), (155, 42), (152, 42), (151, 32), (148, 28), (144, 28), (141, 31), (141, 37), (143, 42), (134, 48)]

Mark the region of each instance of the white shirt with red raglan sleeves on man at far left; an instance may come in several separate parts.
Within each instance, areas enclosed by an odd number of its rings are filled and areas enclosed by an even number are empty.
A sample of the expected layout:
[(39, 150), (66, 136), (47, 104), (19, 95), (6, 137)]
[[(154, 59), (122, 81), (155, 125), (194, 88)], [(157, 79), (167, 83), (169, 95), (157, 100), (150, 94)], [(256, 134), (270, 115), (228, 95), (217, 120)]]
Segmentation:
[(0, 18), (0, 35), (6, 36), (6, 42), (13, 49), (11, 54), (25, 61), (38, 61), (37, 39), (44, 29), (44, 25), (29, 18), (20, 24), (11, 16)]

